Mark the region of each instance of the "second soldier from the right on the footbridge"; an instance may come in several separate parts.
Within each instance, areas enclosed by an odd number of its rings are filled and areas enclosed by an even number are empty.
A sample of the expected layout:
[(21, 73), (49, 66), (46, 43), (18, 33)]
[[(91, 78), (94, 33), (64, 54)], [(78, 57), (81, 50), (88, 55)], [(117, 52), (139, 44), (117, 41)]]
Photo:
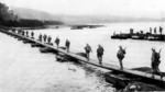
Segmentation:
[(124, 55), (125, 55), (125, 48), (123, 49), (122, 46), (119, 46), (117, 57), (119, 59), (121, 69), (123, 69), (122, 59), (124, 58)]

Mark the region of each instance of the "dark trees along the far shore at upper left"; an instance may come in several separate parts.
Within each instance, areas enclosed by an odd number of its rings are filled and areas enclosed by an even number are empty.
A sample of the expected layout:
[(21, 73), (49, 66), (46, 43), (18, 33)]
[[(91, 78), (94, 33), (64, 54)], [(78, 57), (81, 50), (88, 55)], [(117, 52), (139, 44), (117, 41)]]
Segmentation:
[(18, 15), (13, 14), (12, 10), (9, 10), (9, 7), (0, 2), (0, 25), (12, 27), (36, 27), (54, 24), (63, 24), (63, 23), (58, 21), (19, 19)]

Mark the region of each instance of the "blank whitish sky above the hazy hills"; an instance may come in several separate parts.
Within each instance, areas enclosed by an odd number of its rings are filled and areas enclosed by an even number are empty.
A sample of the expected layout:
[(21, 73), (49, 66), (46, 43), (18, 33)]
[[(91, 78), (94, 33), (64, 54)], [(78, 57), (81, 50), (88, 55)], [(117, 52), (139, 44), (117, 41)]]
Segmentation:
[(165, 0), (0, 0), (9, 7), (53, 14), (163, 18)]

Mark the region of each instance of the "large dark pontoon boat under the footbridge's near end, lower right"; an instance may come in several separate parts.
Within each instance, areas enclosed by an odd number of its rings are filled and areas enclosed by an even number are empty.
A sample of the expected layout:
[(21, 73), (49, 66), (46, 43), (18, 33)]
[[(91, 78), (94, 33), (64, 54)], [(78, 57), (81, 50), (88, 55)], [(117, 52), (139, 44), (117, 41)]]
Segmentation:
[[(146, 74), (152, 73), (152, 69), (148, 67), (133, 68), (132, 70), (143, 71)], [(113, 70), (110, 72), (107, 72), (105, 77), (106, 77), (106, 81), (112, 83), (117, 89), (124, 89), (129, 83), (132, 83), (134, 81), (151, 84), (151, 85), (162, 88), (162, 89), (164, 89), (165, 87), (164, 83), (162, 83), (161, 81), (155, 81), (154, 79), (148, 79), (145, 77), (138, 77), (135, 74), (123, 73), (123, 72), (113, 71)]]

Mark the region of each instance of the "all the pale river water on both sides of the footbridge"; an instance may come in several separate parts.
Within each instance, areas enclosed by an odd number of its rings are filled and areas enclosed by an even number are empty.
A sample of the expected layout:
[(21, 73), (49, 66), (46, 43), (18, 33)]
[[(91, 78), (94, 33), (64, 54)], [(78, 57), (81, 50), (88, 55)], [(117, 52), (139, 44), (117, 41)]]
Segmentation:
[[(164, 42), (148, 41), (119, 41), (111, 39), (116, 33), (129, 33), (129, 28), (135, 31), (148, 31), (150, 26), (163, 26), (164, 23), (114, 23), (106, 24), (106, 27), (70, 30), (36, 30), (35, 37), (40, 33), (47, 34), (53, 41), (58, 36), (61, 46), (65, 45), (66, 38), (70, 41), (70, 50), (85, 51), (88, 43), (92, 53), (90, 58), (97, 59), (96, 49), (98, 44), (105, 48), (103, 62), (119, 66), (117, 51), (119, 45), (127, 47), (123, 66), (127, 68), (150, 67), (151, 48), (162, 48), (160, 69), (165, 71)], [(23, 44), (15, 38), (0, 33), (0, 92), (114, 92), (116, 89), (107, 83), (103, 72), (92, 66), (74, 62), (58, 62), (55, 55), (41, 54), (38, 48), (32, 48), (30, 44)], [(75, 69), (73, 71), (70, 69)]]

